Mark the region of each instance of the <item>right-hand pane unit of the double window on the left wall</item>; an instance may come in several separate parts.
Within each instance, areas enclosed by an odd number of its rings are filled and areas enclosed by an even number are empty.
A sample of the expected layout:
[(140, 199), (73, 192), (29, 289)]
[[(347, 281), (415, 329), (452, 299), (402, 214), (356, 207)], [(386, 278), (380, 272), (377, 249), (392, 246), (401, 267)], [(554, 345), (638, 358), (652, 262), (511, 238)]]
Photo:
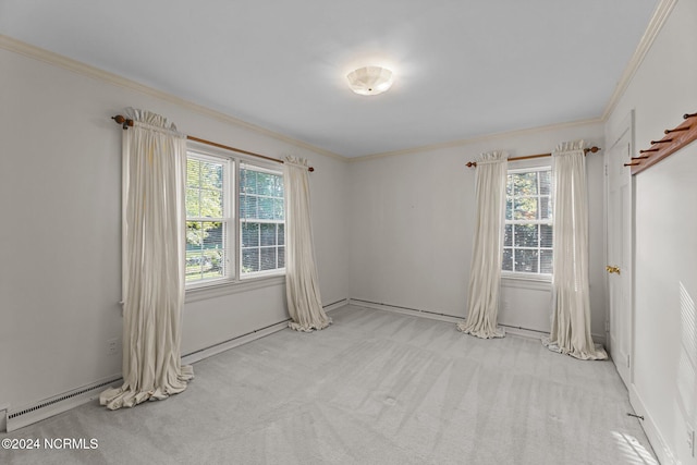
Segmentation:
[(243, 166), (240, 169), (241, 276), (285, 267), (283, 176)]

